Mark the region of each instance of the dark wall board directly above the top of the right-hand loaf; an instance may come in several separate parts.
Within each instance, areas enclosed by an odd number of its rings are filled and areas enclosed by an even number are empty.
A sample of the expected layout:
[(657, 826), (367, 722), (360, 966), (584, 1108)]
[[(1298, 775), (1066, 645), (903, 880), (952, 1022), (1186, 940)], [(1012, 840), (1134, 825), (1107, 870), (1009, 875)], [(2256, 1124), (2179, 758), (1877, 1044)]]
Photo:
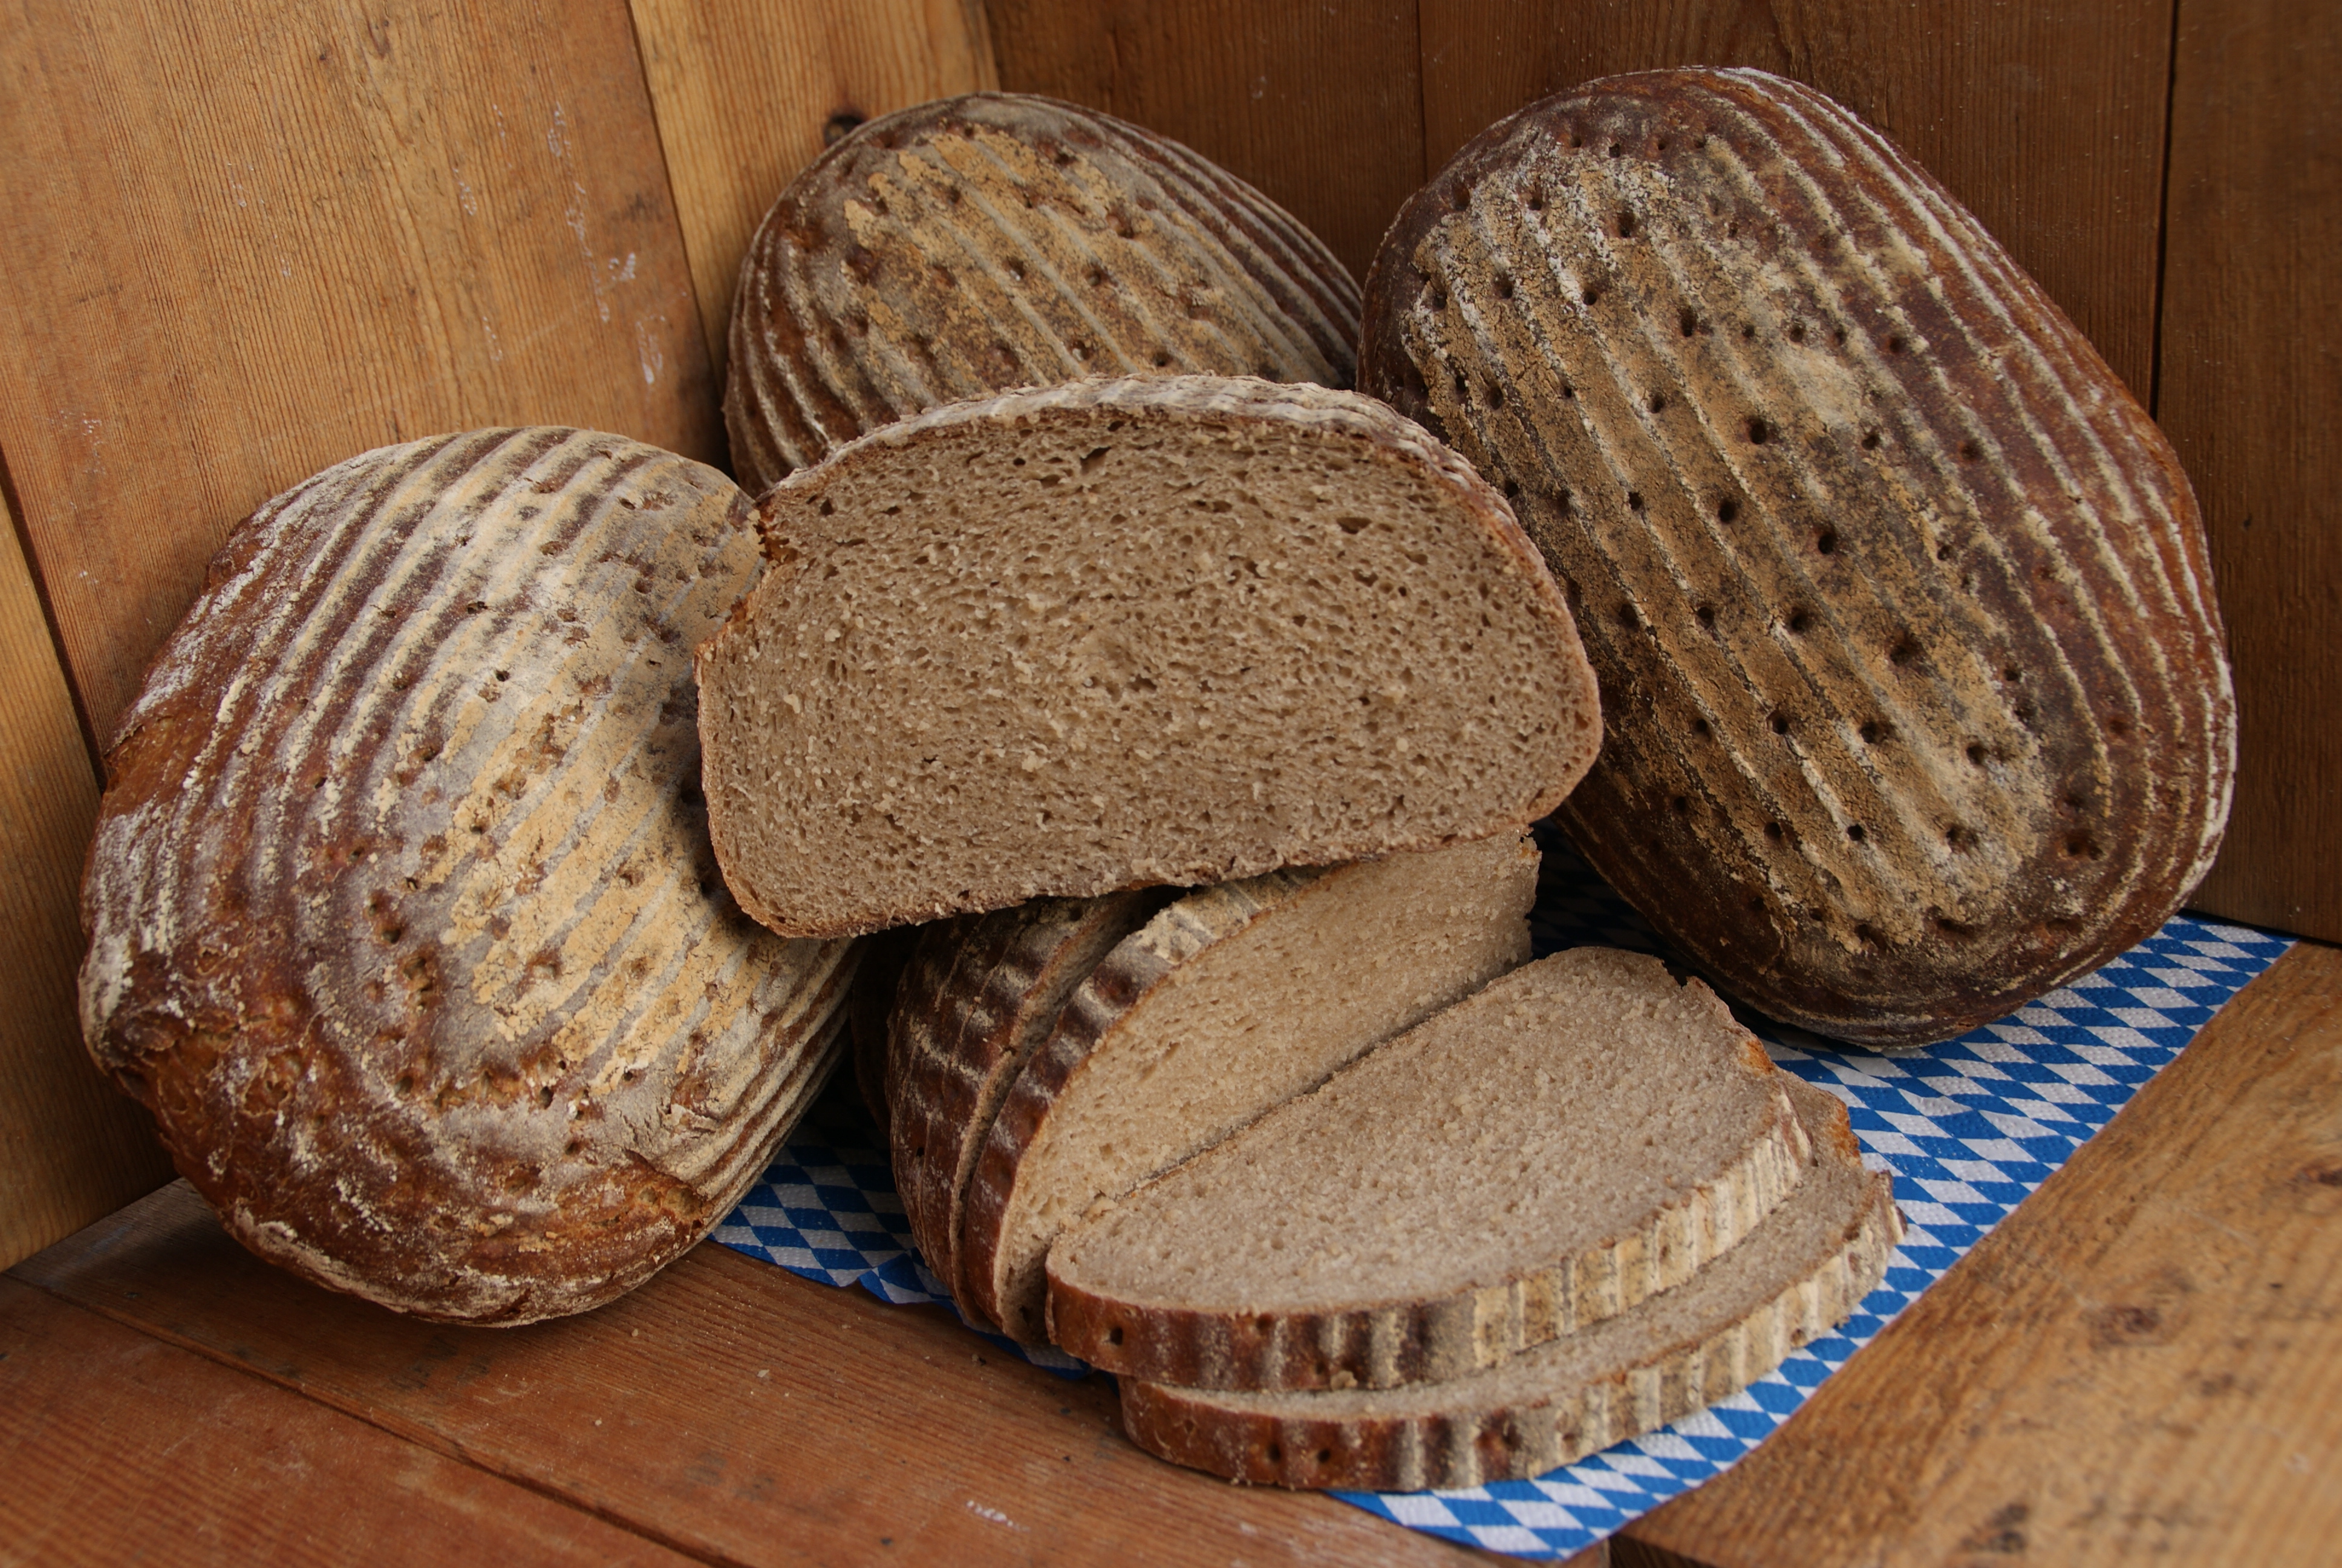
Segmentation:
[(1422, 5), (1433, 171), (1515, 108), (1590, 77), (1796, 77), (1944, 180), (2148, 398), (2171, 0)]

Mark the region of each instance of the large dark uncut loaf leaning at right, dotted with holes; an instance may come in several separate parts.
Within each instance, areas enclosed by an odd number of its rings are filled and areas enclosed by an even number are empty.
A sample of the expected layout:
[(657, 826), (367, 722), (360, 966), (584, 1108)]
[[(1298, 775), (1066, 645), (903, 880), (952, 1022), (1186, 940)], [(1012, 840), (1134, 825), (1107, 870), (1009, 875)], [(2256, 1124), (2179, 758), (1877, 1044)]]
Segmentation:
[(1393, 223), (1361, 382), (1513, 497), (1628, 720), (1562, 823), (1759, 1010), (1958, 1034), (2211, 865), (2234, 705), (2187, 478), (1820, 94), (1660, 70), (1492, 127)]

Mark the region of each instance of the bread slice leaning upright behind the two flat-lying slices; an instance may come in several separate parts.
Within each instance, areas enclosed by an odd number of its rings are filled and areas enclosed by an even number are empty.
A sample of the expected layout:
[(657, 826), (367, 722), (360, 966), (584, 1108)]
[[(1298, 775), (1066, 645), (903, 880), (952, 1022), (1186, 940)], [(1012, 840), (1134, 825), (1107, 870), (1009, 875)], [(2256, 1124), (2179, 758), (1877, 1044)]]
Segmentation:
[(1075, 987), (984, 1130), (963, 1305), (1047, 1338), (1056, 1233), (1529, 956), (1536, 846), (1501, 834), (1190, 893)]

